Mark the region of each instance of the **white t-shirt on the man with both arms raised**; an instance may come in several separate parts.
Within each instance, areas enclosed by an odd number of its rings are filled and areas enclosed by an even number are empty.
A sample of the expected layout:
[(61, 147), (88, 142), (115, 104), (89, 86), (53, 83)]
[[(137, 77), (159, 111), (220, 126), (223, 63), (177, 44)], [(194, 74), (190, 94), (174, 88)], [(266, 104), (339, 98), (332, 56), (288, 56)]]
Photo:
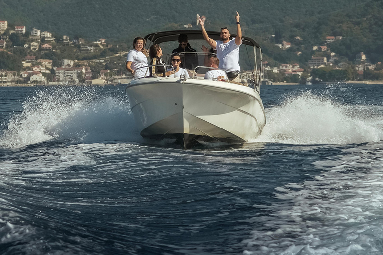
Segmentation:
[(231, 39), (227, 43), (222, 41), (217, 42), (217, 58), (219, 59), (219, 68), (229, 71), (240, 71), (239, 66), (239, 46), (235, 43), (235, 38)]

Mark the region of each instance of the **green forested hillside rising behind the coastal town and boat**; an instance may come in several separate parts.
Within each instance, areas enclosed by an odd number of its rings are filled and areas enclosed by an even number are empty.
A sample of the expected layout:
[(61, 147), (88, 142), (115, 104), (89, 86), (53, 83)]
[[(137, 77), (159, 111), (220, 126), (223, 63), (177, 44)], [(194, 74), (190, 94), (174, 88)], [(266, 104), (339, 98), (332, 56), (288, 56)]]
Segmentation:
[[(263, 46), (266, 59), (304, 63), (313, 54), (312, 46), (323, 45), (331, 35), (343, 36), (331, 44), (340, 56), (352, 61), (363, 51), (372, 61), (383, 61), (383, 0), (0, 0), (0, 20), (10, 25), (128, 45), (133, 37), (150, 32), (183, 29), (188, 23), (195, 29), (197, 13), (207, 17), (208, 30), (234, 28), (235, 11), (243, 35)], [(294, 44), (296, 36), (303, 41), (287, 51), (275, 46), (283, 40)], [(298, 50), (300, 57), (292, 54)]]

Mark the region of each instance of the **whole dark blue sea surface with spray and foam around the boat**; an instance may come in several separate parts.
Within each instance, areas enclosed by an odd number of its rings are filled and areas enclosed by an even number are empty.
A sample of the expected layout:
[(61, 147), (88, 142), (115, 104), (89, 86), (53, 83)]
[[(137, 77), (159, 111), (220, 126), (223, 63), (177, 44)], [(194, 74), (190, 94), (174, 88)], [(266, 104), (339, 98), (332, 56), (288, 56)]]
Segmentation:
[(382, 85), (262, 86), (259, 137), (194, 150), (124, 89), (0, 87), (1, 255), (383, 254)]

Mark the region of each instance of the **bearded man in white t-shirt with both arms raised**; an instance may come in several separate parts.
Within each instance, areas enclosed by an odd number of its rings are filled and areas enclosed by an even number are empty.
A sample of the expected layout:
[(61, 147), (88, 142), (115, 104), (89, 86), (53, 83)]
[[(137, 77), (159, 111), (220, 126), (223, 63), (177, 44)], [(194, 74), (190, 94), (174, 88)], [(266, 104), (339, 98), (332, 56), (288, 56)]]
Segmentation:
[[(235, 19), (237, 21), (237, 37), (230, 40), (231, 34), (229, 29), (227, 29), (227, 27), (223, 27), (221, 28), (221, 41), (215, 41), (209, 38), (204, 27), (205, 22), (199, 17), (199, 24), (202, 28), (203, 38), (213, 49), (217, 50), (219, 68), (231, 72), (239, 72), (241, 70), (239, 66), (239, 46), (242, 44), (242, 30), (241, 23), (239, 22), (238, 11)], [(231, 81), (240, 82), (238, 74), (228, 72), (227, 76)]]

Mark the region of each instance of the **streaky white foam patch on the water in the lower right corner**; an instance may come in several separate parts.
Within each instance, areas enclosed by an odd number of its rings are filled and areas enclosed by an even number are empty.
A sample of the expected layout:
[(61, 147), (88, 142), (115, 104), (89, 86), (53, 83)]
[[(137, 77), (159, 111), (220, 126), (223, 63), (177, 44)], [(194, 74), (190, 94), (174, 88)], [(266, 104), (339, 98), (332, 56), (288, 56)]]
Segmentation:
[(315, 162), (312, 181), (277, 188), (269, 218), (253, 232), (243, 254), (382, 254), (383, 144), (344, 150)]

